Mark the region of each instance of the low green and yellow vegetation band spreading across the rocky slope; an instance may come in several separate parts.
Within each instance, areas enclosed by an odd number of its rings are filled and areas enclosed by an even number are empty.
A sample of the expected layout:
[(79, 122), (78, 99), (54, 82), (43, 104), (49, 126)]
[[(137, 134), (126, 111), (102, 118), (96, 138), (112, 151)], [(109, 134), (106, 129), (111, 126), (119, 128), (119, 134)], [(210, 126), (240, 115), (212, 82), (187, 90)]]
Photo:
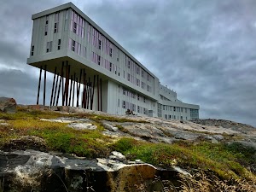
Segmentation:
[[(97, 129), (93, 131), (75, 130), (65, 123), (41, 120), (63, 116), (91, 119), (95, 122)], [(120, 137), (119, 140), (116, 140), (116, 138), (102, 134), (104, 131), (102, 120), (116, 123), (134, 122), (131, 119), (115, 119), (96, 114), (63, 114), (38, 110), (20, 109), (15, 114), (0, 113), (0, 149), (19, 148), (14, 143), (24, 136), (38, 137), (45, 142), (43, 148), (41, 148), (42, 146), (38, 148), (41, 150), (54, 150), (89, 158), (104, 157), (110, 151), (117, 150), (125, 154), (129, 160), (140, 159), (154, 166), (162, 167), (181, 166), (195, 176), (192, 180), (181, 179), (183, 183), (181, 191), (200, 191), (189, 190), (191, 189), (190, 185), (197, 186), (198, 189), (202, 189), (199, 187), (200, 185), (207, 187), (210, 183), (220, 187), (220, 181), (225, 184), (229, 183), (229, 186), (244, 186), (243, 183), (247, 183), (248, 186), (256, 185), (256, 154), (253, 148), (244, 148), (239, 143), (212, 144), (206, 141), (198, 143), (183, 141), (171, 145), (142, 142), (129, 137)], [(125, 131), (121, 125), (117, 125), (117, 127), (120, 131)], [(211, 181), (210, 177), (218, 179)], [(216, 182), (217, 180), (219, 182)], [(203, 182), (205, 185), (202, 184)], [(224, 184), (223, 188), (225, 188)]]

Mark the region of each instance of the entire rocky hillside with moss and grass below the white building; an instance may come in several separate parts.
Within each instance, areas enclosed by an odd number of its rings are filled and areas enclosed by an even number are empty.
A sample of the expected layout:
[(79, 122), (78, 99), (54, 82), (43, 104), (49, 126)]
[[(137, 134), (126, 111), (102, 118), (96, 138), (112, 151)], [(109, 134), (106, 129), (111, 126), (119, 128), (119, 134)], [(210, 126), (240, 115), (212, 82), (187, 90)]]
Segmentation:
[(20, 106), (0, 113), (0, 192), (256, 191), (255, 138), (227, 120)]

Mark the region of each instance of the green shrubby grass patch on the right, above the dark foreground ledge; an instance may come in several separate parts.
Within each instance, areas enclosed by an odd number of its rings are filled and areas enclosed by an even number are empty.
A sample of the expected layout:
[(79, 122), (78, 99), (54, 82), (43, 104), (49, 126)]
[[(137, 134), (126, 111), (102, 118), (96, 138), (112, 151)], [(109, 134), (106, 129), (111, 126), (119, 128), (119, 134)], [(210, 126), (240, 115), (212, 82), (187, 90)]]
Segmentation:
[(222, 179), (239, 179), (256, 183), (256, 176), (247, 170), (253, 153), (240, 151), (236, 145), (212, 143), (146, 143), (132, 138), (121, 138), (112, 148), (131, 160), (140, 159), (155, 166), (181, 166), (212, 170)]

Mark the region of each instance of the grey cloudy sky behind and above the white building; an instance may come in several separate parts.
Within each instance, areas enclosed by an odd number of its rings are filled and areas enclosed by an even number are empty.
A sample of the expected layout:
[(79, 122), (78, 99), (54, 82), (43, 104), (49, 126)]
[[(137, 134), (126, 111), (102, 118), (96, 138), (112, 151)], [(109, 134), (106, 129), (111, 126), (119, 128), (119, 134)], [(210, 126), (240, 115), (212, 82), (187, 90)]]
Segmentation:
[[(38, 69), (26, 65), (31, 15), (62, 3), (67, 1), (2, 1), (0, 96), (36, 102)], [(256, 126), (255, 0), (73, 3), (180, 100), (199, 104), (201, 118)]]

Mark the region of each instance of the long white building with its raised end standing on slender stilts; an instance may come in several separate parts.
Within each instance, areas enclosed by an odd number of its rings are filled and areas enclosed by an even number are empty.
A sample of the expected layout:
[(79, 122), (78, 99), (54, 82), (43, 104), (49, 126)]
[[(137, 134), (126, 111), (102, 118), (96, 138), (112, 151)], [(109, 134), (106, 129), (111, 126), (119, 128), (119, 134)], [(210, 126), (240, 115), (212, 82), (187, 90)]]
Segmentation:
[(198, 105), (177, 100), (175, 92), (73, 3), (32, 15), (32, 20), (27, 63), (40, 69), (38, 104), (45, 105), (47, 73), (53, 73), (53, 82), (47, 85), (50, 106), (113, 114), (125, 114), (129, 108), (142, 116), (199, 118)]

